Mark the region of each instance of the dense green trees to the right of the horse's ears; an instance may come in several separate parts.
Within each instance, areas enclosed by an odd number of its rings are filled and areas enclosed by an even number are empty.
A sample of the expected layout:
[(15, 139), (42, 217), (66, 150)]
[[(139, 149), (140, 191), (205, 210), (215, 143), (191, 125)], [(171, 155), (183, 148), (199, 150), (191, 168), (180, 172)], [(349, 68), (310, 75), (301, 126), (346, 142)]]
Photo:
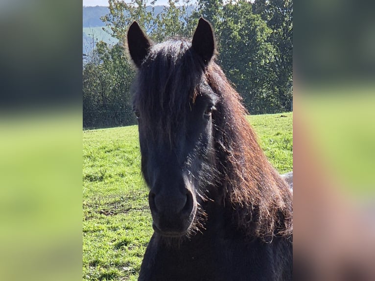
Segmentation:
[(291, 110), (292, 1), (198, 1), (214, 26), (219, 63), (253, 114)]

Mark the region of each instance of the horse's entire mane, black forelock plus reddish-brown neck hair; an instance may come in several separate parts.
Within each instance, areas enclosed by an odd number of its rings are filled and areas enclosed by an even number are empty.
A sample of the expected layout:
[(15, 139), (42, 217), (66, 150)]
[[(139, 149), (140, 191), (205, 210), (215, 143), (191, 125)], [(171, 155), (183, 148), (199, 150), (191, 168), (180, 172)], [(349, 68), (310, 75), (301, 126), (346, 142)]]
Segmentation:
[(185, 124), (186, 111), (199, 94), (196, 85), (205, 80), (219, 96), (213, 123), (224, 204), (233, 208), (238, 228), (249, 237), (291, 236), (292, 193), (266, 159), (245, 118), (240, 95), (214, 59), (205, 66), (190, 42), (168, 40), (150, 48), (136, 79), (133, 103), (141, 118), (145, 125), (158, 120), (148, 129), (160, 134), (156, 141), (165, 140), (167, 134), (171, 143), (171, 128)]

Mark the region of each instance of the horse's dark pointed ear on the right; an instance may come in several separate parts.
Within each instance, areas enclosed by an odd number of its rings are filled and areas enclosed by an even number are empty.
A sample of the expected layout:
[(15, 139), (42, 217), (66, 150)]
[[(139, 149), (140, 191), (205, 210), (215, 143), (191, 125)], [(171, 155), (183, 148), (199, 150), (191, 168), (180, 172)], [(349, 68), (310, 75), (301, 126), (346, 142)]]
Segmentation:
[(201, 56), (203, 62), (208, 65), (215, 53), (215, 39), (211, 24), (204, 18), (199, 19), (191, 46)]

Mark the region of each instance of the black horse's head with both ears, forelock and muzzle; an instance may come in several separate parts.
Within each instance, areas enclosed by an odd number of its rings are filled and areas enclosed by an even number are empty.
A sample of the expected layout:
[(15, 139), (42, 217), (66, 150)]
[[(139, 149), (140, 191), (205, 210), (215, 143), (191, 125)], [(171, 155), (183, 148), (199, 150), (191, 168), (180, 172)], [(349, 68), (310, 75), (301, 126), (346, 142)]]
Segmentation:
[(198, 230), (204, 187), (215, 180), (218, 96), (205, 76), (215, 54), (213, 31), (201, 18), (191, 43), (153, 44), (134, 22), (127, 40), (138, 69), (133, 107), (153, 228), (163, 236), (182, 237)]

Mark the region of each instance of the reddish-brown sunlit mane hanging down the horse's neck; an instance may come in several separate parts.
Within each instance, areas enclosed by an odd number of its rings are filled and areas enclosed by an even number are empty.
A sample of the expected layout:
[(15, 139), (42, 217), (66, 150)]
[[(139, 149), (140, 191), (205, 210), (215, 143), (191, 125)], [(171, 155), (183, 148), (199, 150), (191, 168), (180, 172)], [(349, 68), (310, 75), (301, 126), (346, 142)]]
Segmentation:
[(238, 228), (248, 236), (272, 240), (293, 232), (292, 193), (260, 148), (246, 120), (246, 109), (221, 68), (211, 62), (206, 71), (220, 96), (215, 115), (219, 171), (224, 177), (225, 202), (233, 207)]

